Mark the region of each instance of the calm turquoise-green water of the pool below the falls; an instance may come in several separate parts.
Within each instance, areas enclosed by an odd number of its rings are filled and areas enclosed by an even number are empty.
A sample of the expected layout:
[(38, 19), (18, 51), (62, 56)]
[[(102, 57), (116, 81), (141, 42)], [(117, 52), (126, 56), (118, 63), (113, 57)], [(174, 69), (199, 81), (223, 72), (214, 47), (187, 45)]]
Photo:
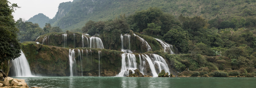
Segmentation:
[(43, 88), (255, 88), (256, 78), (14, 77)]

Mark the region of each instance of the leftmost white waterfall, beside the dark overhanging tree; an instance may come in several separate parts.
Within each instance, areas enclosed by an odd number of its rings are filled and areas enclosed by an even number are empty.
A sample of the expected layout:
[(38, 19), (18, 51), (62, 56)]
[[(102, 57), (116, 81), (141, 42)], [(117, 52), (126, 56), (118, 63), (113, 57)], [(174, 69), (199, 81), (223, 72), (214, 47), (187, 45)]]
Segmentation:
[(21, 56), (12, 60), (14, 77), (32, 77), (29, 64), (25, 54), (21, 51)]

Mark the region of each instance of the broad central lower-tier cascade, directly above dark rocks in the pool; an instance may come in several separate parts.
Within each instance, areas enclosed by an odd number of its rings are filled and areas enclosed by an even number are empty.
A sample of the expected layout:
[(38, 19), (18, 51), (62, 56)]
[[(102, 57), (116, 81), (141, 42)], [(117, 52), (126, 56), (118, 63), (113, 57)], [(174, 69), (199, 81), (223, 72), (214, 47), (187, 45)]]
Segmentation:
[[(128, 71), (127, 71), (127, 69), (128, 69)], [(134, 73), (133, 70), (135, 70), (135, 69), (137, 69), (135, 55), (131, 54), (131, 53), (123, 53), (122, 54), (121, 72), (116, 76), (119, 76), (119, 77), (128, 76), (129, 70), (132, 70), (132, 73)]]

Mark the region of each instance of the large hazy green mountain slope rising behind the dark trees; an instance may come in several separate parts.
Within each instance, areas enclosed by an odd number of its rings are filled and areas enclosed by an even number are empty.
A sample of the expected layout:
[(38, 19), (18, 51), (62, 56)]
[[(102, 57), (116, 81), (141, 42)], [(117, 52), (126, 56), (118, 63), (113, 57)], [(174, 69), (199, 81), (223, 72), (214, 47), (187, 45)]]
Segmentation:
[(255, 0), (75, 0), (60, 3), (55, 17), (50, 20), (53, 26), (60, 26), (64, 31), (82, 28), (89, 20), (107, 21), (120, 14), (132, 15), (135, 11), (149, 7), (161, 8), (175, 17), (202, 16), (208, 20), (215, 17), (222, 21), (233, 17), (255, 16)]

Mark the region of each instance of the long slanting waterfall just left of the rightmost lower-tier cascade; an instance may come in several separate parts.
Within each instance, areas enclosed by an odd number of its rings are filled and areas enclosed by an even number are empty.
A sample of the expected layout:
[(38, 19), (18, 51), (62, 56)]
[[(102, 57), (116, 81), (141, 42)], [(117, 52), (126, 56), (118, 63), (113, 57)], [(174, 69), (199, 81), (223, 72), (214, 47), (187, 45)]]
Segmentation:
[(152, 72), (152, 73), (151, 73), (151, 76), (157, 77), (158, 74), (156, 73), (156, 68), (155, 68), (155, 66), (154, 66), (154, 64), (153, 64), (153, 62), (152, 62), (152, 60), (149, 58), (149, 56), (146, 55), (146, 54), (144, 54), (144, 55), (142, 54), (141, 56), (142, 56), (142, 58), (144, 58), (144, 59), (146, 59), (146, 60), (148, 61), (150, 70), (151, 70), (151, 72)]

